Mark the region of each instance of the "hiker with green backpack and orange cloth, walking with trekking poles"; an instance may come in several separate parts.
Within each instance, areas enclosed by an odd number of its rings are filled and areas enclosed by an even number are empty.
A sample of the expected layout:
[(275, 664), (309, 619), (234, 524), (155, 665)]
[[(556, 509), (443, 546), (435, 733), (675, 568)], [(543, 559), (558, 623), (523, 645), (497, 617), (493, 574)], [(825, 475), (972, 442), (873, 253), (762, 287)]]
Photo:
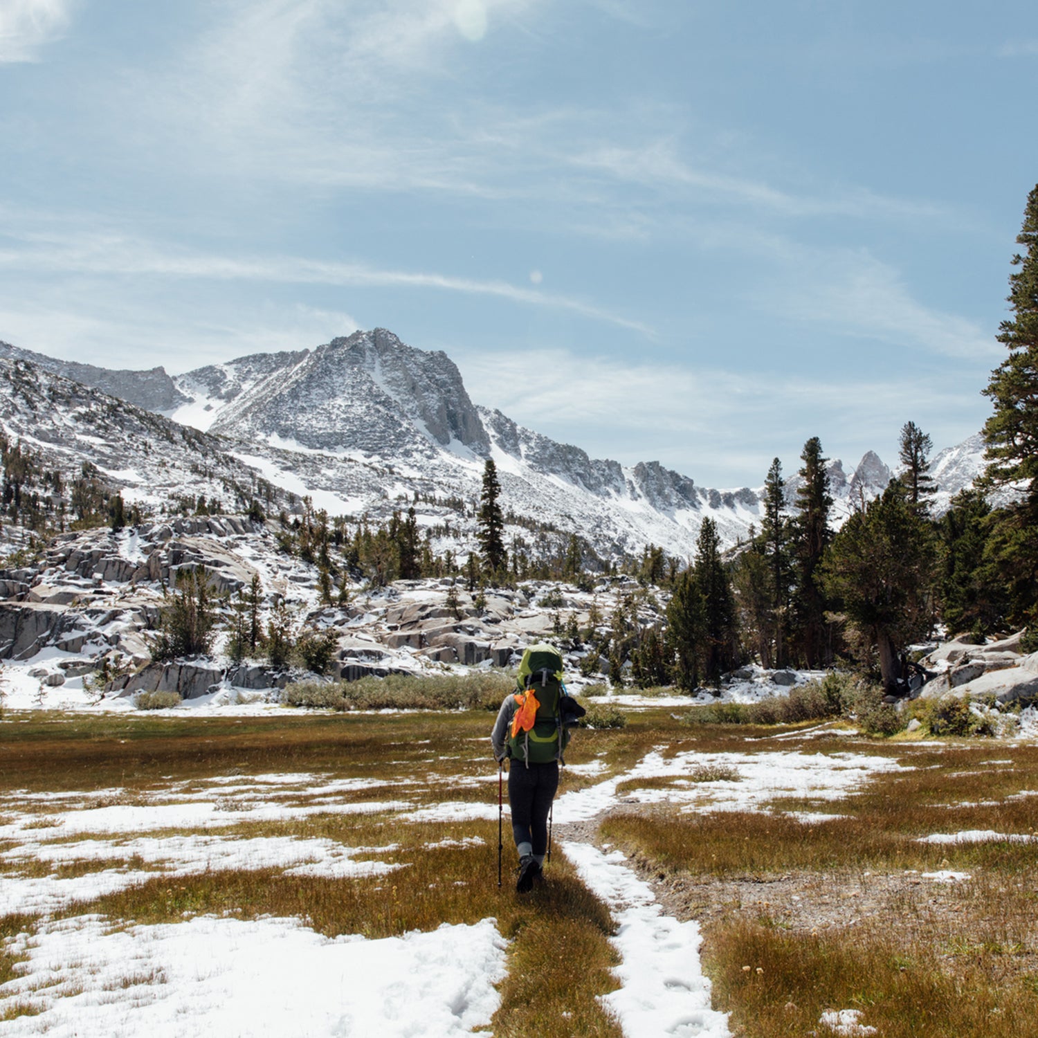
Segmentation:
[[(548, 850), (548, 814), (558, 789), (558, 765), (570, 741), (569, 727), (584, 713), (566, 692), (563, 657), (553, 646), (530, 646), (522, 656), (516, 691), (498, 711), (490, 741), (498, 767), (509, 765), (512, 835), (519, 852), (516, 890), (525, 893), (541, 877)], [(499, 863), (498, 863), (499, 864)]]

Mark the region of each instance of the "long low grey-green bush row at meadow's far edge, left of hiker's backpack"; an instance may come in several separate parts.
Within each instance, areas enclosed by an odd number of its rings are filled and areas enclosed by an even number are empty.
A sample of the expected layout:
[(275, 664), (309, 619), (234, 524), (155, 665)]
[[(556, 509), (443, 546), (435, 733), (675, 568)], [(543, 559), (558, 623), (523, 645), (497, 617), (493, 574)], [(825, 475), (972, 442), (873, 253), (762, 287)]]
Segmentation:
[(297, 681), (285, 686), (288, 706), (332, 710), (494, 710), (515, 687), (507, 674), (413, 676), (390, 674), (357, 681)]

